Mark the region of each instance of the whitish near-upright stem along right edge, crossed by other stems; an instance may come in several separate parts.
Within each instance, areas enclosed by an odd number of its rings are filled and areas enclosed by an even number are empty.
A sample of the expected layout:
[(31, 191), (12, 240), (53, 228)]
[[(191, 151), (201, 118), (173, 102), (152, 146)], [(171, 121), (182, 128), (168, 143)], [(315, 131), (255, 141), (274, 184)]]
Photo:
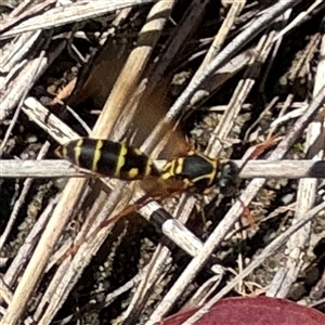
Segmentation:
[[(320, 50), (321, 61), (317, 65), (315, 75), (315, 86), (313, 93), (325, 86), (325, 36), (323, 35)], [(316, 118), (308, 126), (306, 150), (307, 157), (310, 159), (322, 160), (324, 158), (324, 116), (318, 114)], [(300, 180), (297, 195), (296, 212), (294, 219), (299, 221), (306, 213), (312, 209), (317, 198), (317, 180), (304, 179)], [(310, 238), (311, 224), (307, 223), (301, 227), (295, 236), (286, 244), (287, 260), (274, 276), (274, 281), (268, 289), (268, 296), (285, 298), (291, 285), (297, 281), (298, 274), (303, 265), (303, 256), (306, 246)], [(276, 281), (275, 281), (276, 280)]]

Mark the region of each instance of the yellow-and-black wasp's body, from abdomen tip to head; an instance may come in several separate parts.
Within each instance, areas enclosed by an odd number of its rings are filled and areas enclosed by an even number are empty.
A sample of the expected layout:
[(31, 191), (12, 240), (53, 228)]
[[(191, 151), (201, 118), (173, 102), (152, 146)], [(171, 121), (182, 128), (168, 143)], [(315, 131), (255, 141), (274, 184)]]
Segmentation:
[(101, 176), (125, 181), (154, 179), (160, 194), (161, 188), (170, 194), (203, 193), (217, 186), (223, 195), (232, 195), (238, 183), (235, 164), (221, 162), (193, 150), (168, 160), (161, 170), (139, 148), (109, 140), (80, 138), (58, 146), (55, 154)]

